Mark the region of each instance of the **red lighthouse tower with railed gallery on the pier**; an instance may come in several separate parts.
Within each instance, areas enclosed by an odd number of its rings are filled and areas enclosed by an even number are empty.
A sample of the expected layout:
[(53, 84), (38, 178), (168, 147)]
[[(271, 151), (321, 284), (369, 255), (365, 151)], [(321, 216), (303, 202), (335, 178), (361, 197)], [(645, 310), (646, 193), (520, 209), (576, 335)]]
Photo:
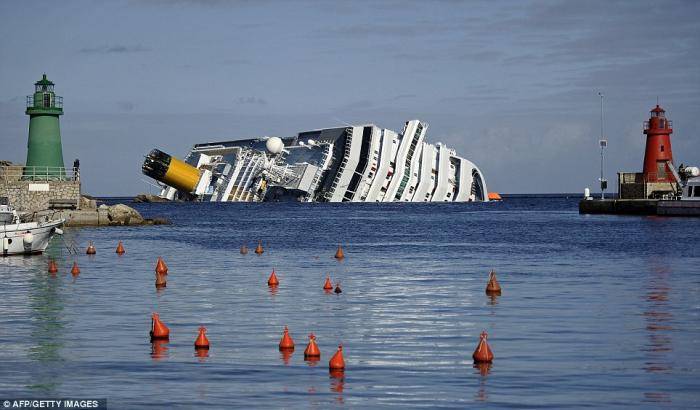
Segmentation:
[(666, 111), (656, 105), (651, 110), (649, 121), (644, 122), (644, 133), (647, 135), (647, 147), (644, 151), (644, 181), (676, 182), (667, 162), (673, 164), (671, 151), (671, 121), (666, 118)]

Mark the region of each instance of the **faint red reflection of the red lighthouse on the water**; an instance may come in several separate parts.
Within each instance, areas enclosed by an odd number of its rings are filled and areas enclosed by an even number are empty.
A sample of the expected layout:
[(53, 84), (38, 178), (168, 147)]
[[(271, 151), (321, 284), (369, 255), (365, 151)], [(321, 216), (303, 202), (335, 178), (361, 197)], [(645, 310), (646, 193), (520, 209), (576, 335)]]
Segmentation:
[[(673, 314), (668, 305), (671, 294), (669, 274), (668, 264), (663, 262), (659, 264), (658, 260), (652, 262), (652, 272), (645, 297), (647, 308), (644, 311), (648, 337), (644, 347), (646, 354), (644, 370), (652, 374), (669, 373), (673, 369), (669, 364), (670, 353), (673, 351), (671, 339)], [(653, 402), (670, 402), (671, 394), (659, 391), (645, 392), (644, 399)]]

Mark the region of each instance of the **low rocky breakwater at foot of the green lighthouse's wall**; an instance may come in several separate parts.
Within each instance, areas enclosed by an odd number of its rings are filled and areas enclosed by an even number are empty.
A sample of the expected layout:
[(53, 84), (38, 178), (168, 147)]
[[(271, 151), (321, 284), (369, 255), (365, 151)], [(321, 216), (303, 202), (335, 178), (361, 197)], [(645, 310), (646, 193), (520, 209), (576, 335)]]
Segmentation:
[(46, 217), (63, 218), (66, 220), (66, 227), (170, 224), (170, 221), (165, 218), (146, 219), (137, 210), (124, 204), (100, 205), (94, 209), (45, 210), (32, 213), (27, 219), (36, 221)]

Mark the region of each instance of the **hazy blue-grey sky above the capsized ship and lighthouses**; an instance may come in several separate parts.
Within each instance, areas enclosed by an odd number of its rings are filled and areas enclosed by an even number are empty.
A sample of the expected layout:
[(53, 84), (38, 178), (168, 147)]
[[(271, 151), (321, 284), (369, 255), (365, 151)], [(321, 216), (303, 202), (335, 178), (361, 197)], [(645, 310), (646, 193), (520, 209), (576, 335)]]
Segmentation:
[(676, 163), (700, 165), (697, 1), (3, 1), (0, 38), (0, 159), (24, 162), (46, 72), (93, 195), (148, 191), (154, 147), (413, 118), (491, 190), (580, 192), (598, 92), (611, 181), (641, 170), (657, 97)]

